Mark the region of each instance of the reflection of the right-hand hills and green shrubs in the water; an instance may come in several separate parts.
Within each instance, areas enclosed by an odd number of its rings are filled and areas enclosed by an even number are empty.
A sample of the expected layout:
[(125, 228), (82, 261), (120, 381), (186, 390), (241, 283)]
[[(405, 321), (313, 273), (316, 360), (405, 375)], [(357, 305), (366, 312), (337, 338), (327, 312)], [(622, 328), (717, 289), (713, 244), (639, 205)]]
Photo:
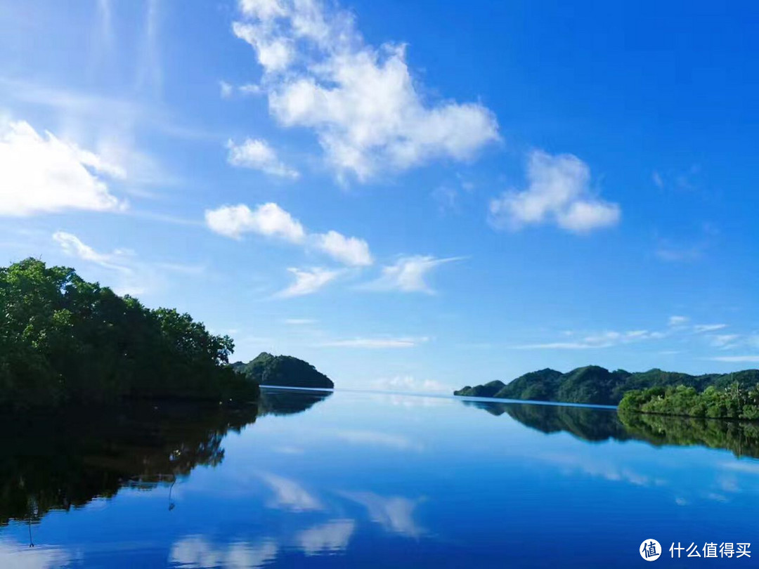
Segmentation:
[(465, 405), (509, 417), (540, 432), (569, 432), (584, 441), (636, 439), (652, 445), (699, 445), (724, 448), (738, 457), (759, 457), (759, 423), (669, 417), (646, 413), (618, 414), (613, 409), (464, 401)]

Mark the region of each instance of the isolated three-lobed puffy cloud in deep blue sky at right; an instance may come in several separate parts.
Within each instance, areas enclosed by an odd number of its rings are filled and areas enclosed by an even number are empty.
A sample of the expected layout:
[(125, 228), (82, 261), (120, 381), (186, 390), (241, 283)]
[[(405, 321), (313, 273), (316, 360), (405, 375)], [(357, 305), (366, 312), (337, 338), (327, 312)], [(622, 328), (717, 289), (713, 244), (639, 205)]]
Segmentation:
[(509, 190), (490, 201), (490, 223), (518, 230), (553, 223), (573, 233), (616, 225), (619, 205), (601, 200), (590, 188), (591, 170), (572, 154), (531, 152), (528, 189)]

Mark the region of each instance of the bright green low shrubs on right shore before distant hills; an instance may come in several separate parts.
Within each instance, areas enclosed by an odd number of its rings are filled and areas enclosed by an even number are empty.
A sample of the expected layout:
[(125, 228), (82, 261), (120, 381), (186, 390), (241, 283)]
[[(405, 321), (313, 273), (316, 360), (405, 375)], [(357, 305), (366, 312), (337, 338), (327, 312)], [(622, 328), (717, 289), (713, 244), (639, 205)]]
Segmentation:
[(658, 413), (720, 419), (759, 419), (759, 385), (742, 388), (733, 383), (728, 388), (710, 385), (704, 391), (678, 385), (633, 389), (619, 403), (619, 413)]

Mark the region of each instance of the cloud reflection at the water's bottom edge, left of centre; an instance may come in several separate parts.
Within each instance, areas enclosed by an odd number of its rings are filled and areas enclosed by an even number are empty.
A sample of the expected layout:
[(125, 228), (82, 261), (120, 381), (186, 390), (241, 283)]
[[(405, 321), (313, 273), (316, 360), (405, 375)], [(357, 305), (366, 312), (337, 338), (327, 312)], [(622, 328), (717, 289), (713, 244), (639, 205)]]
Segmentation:
[(186, 569), (257, 569), (273, 561), (278, 552), (279, 547), (272, 540), (256, 545), (247, 542), (216, 545), (203, 536), (187, 536), (172, 545), (169, 558), (172, 565)]

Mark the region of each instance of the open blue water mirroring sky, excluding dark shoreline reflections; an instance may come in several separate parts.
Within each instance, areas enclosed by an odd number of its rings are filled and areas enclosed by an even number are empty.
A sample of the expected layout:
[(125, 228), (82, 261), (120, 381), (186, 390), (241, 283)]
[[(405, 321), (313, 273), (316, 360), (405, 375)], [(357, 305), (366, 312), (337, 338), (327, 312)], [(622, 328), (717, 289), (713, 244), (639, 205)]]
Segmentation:
[[(759, 558), (759, 461), (730, 451), (588, 442), (454, 398), (339, 390), (222, 446), (221, 464), (171, 488), (0, 527), (0, 567), (639, 567), (648, 538), (669, 567)], [(672, 542), (756, 553), (673, 560)]]

